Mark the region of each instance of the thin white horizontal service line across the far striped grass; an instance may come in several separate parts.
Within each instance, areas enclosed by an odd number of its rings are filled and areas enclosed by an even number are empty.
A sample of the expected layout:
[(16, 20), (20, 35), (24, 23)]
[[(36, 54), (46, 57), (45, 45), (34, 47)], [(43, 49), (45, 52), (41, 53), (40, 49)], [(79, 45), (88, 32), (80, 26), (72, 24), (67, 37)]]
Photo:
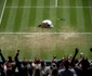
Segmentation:
[[(17, 8), (24, 8), (24, 9), (27, 9), (27, 8), (55, 8), (55, 7), (5, 7), (5, 8), (13, 8), (13, 9), (17, 9)], [(56, 7), (56, 8), (76, 8), (76, 9), (79, 9), (79, 8), (92, 8), (92, 7)]]

